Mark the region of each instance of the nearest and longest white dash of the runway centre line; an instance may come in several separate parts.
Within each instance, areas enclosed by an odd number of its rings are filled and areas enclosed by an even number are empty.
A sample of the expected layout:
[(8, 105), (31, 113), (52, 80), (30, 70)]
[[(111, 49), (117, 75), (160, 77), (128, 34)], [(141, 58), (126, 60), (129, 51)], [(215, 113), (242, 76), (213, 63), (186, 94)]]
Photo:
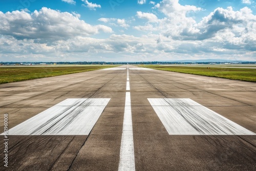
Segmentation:
[(119, 171), (135, 170), (131, 93), (126, 92)]

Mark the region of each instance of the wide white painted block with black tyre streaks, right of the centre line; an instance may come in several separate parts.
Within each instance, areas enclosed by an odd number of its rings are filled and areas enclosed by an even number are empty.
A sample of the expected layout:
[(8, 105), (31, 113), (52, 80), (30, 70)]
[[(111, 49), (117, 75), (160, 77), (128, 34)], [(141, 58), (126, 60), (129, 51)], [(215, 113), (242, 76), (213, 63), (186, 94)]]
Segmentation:
[(191, 99), (148, 101), (169, 135), (256, 135)]

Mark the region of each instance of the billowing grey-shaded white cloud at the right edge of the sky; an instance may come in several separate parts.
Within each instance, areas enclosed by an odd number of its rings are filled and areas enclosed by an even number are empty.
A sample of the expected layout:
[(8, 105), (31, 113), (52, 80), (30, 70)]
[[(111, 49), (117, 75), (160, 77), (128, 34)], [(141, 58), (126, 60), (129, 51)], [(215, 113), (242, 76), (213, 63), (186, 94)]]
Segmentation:
[(256, 33), (255, 21), (256, 16), (248, 7), (244, 7), (240, 11), (233, 11), (231, 7), (217, 8), (197, 25), (197, 28), (200, 29), (197, 38), (207, 39), (218, 36), (221, 32), (233, 33), (236, 37), (247, 35), (250, 38)]

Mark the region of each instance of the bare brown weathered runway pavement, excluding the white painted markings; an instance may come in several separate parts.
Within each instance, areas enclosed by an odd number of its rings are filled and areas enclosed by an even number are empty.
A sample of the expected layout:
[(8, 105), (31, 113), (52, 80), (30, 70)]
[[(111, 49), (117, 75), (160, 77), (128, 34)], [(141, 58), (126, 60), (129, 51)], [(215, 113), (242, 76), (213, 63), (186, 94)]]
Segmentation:
[[(9, 136), (8, 169), (117, 170), (126, 74), (98, 70), (0, 85), (1, 133), (4, 113), (11, 129), (67, 98), (111, 98), (88, 136)], [(136, 170), (256, 167), (256, 136), (169, 135), (147, 100), (190, 98), (256, 133), (256, 83), (157, 70), (129, 70), (129, 78)], [(3, 159), (4, 146), (0, 152)]]

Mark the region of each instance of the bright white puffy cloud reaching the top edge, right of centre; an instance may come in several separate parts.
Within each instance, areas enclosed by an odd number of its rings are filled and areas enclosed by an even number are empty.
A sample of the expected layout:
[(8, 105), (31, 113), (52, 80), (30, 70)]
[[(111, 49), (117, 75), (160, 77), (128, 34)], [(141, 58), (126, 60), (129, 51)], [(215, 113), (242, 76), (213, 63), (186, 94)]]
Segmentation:
[[(194, 18), (187, 17), (187, 13), (200, 11), (202, 10), (201, 8), (180, 5), (178, 0), (163, 0), (155, 5), (155, 8), (162, 12), (165, 17), (158, 19), (155, 14), (141, 12), (137, 12), (137, 16), (145, 19), (151, 18), (149, 21), (158, 23), (154, 30), (158, 30), (161, 34), (175, 39), (182, 39), (181, 34), (184, 34), (183, 37), (185, 37), (199, 32), (199, 29), (196, 28), (197, 22)], [(151, 27), (151, 25), (146, 24), (145, 28), (143, 26), (134, 28), (147, 30)]]

